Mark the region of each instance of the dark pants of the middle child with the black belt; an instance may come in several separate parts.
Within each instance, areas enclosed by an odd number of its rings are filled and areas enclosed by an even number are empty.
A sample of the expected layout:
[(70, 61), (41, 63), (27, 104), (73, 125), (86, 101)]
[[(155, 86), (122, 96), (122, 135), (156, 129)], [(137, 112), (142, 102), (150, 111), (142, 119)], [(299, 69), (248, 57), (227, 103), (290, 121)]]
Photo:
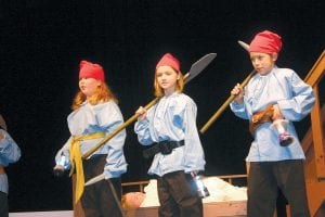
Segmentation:
[(157, 179), (159, 217), (202, 217), (203, 203), (191, 175), (174, 171)]

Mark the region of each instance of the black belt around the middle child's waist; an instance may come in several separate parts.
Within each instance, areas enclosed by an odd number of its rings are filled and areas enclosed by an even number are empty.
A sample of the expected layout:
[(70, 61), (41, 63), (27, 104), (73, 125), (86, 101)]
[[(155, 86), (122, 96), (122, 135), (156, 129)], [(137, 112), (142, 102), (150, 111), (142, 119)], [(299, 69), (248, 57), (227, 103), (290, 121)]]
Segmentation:
[(145, 158), (150, 158), (152, 156), (155, 156), (157, 153), (161, 153), (164, 155), (170, 154), (173, 149), (183, 146), (184, 140), (181, 141), (161, 141), (158, 143), (154, 143), (154, 145), (150, 149), (146, 149), (143, 151), (143, 156)]

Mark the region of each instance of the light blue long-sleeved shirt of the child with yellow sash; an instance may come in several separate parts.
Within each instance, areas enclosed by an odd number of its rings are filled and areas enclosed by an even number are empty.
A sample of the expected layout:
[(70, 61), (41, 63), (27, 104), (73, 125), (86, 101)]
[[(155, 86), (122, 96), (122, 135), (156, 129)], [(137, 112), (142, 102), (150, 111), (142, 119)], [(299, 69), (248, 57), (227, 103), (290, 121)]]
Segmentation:
[[(113, 101), (108, 101), (96, 105), (83, 103), (68, 116), (67, 123), (72, 136), (100, 131), (105, 132), (107, 136), (123, 123), (123, 118), (117, 104)], [(81, 154), (88, 152), (102, 139), (103, 138), (80, 141)], [(106, 179), (120, 177), (127, 171), (127, 162), (123, 155), (125, 139), (126, 130), (123, 129), (93, 153), (93, 155), (107, 154), (106, 165), (103, 168)], [(56, 164), (61, 161), (62, 155), (66, 156), (68, 161), (70, 141), (72, 137), (57, 152), (55, 156)]]

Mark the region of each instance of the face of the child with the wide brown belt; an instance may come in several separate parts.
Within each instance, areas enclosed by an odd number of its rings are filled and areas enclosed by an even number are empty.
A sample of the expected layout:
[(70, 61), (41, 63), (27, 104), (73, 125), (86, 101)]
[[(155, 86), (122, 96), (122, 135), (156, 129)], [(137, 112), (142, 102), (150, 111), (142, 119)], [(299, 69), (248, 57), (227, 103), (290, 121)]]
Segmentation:
[(260, 75), (266, 75), (274, 67), (276, 59), (277, 54), (275, 53), (250, 52), (251, 64)]

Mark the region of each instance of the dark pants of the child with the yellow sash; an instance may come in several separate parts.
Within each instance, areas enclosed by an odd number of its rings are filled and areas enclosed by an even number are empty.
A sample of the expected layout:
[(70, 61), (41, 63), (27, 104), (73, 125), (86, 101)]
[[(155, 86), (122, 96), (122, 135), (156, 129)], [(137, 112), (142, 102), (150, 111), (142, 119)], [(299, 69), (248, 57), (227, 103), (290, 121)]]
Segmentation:
[[(89, 180), (103, 173), (106, 164), (106, 155), (99, 155), (82, 162), (84, 180)], [(110, 181), (110, 183), (109, 183)], [(112, 189), (110, 187), (114, 187)], [(94, 184), (84, 187), (81, 205), (86, 217), (120, 217), (121, 180), (112, 178), (101, 180)]]

